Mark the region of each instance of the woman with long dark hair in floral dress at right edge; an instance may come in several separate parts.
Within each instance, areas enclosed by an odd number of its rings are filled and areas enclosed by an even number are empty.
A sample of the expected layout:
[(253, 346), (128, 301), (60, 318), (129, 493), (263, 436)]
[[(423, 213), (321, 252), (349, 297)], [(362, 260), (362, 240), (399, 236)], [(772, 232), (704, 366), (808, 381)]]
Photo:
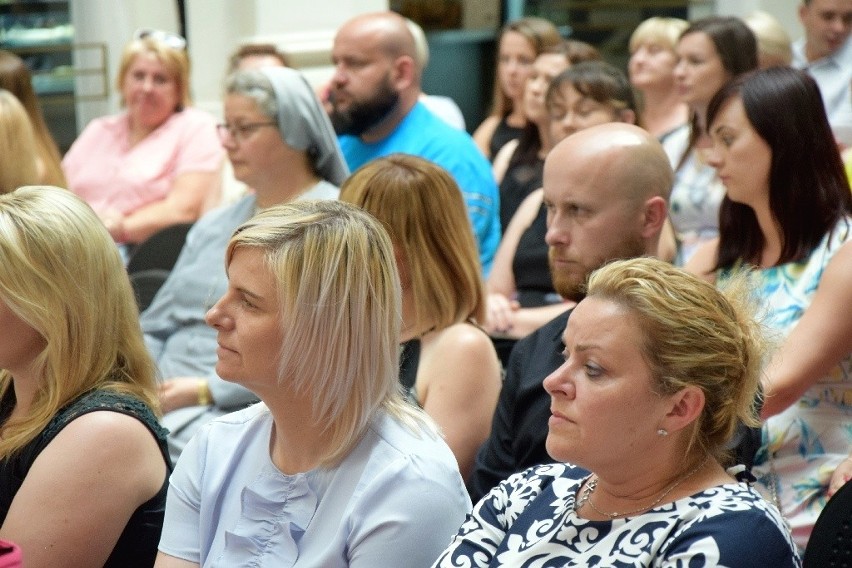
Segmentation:
[(807, 73), (776, 67), (734, 80), (708, 123), (708, 161), (726, 195), (718, 240), (689, 268), (720, 283), (749, 272), (783, 340), (762, 381), (755, 474), (804, 547), (852, 446), (852, 318), (842, 308), (852, 304), (852, 195)]

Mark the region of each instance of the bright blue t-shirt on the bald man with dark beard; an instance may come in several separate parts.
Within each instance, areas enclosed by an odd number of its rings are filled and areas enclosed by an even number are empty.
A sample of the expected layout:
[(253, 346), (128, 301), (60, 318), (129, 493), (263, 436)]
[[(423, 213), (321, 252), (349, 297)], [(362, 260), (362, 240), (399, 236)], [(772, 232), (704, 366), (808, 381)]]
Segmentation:
[(353, 172), (375, 158), (395, 153), (420, 156), (447, 170), (461, 188), (482, 272), (488, 275), (500, 244), (500, 197), (491, 165), (469, 134), (448, 126), (417, 103), (396, 129), (378, 142), (368, 144), (348, 134), (338, 139)]

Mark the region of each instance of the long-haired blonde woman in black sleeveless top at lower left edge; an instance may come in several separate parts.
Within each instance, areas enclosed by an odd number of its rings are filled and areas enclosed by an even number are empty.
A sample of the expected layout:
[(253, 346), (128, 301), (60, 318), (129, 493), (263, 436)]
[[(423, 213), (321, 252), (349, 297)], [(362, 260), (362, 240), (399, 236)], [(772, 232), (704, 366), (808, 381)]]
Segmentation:
[(78, 197), (0, 195), (0, 538), (30, 567), (150, 566), (171, 462), (118, 251)]

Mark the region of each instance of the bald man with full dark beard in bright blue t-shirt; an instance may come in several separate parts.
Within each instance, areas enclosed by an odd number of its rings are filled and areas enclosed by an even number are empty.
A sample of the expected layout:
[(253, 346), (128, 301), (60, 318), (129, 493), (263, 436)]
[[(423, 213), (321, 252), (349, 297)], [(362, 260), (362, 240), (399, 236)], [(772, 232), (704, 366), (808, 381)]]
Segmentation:
[(393, 12), (356, 16), (338, 30), (331, 55), (330, 116), (349, 169), (403, 153), (447, 170), (461, 189), (487, 275), (500, 242), (491, 165), (467, 132), (420, 102), (422, 69), (405, 18)]

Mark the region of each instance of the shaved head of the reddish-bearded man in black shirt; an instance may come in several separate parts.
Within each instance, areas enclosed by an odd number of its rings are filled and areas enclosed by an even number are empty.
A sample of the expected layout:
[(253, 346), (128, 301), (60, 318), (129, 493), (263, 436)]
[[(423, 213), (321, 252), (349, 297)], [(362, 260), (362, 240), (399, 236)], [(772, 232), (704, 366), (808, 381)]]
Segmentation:
[(550, 151), (545, 240), (560, 295), (579, 300), (593, 270), (656, 253), (672, 178), (660, 143), (623, 122), (581, 130)]

